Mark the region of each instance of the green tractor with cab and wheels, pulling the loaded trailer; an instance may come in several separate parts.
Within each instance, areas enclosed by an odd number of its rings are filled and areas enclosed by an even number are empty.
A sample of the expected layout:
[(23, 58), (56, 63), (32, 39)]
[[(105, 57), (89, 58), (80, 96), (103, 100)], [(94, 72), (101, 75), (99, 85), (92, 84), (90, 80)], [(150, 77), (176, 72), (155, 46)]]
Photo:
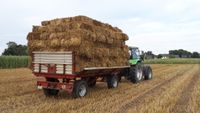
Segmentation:
[(125, 69), (122, 75), (132, 83), (139, 83), (142, 80), (150, 80), (153, 77), (152, 69), (149, 65), (143, 64), (138, 47), (129, 47), (130, 68)]

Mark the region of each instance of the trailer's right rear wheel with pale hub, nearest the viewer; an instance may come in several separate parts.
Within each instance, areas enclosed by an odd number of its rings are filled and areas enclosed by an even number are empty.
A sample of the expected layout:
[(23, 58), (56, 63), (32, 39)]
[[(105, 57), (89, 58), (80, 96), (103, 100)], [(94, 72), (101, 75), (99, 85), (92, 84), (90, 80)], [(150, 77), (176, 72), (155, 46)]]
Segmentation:
[(88, 86), (85, 80), (77, 80), (74, 83), (72, 96), (74, 98), (84, 97), (87, 94)]

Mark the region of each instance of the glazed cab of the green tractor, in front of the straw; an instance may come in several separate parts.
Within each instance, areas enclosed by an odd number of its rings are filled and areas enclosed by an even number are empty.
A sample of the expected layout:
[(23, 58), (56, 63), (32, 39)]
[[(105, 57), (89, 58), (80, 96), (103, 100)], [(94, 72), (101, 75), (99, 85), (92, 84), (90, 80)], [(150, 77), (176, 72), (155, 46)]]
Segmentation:
[(138, 63), (141, 63), (142, 59), (140, 57), (140, 50), (138, 47), (129, 47), (129, 64), (130, 65), (136, 65)]

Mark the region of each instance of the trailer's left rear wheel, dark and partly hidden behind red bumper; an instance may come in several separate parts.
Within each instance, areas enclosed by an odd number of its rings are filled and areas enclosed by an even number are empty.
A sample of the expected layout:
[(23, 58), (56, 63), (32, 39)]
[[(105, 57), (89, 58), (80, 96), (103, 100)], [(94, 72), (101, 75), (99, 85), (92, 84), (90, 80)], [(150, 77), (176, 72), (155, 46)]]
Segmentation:
[[(48, 82), (59, 82), (57, 79), (54, 79), (54, 78), (47, 78), (47, 81), (48, 81)], [(47, 97), (50, 97), (50, 96), (57, 96), (59, 90), (57, 90), (57, 89), (47, 89), (47, 88), (44, 88), (44, 89), (43, 89), (43, 92), (44, 92), (44, 94), (45, 94)]]

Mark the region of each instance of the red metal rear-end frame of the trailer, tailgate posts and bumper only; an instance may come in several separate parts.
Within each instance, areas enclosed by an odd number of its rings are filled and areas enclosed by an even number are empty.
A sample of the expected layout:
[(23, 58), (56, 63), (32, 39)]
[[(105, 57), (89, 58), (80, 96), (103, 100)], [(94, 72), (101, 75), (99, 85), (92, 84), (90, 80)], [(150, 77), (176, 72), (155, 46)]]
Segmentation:
[[(72, 53), (72, 73), (75, 71), (75, 53)], [(31, 54), (32, 58), (34, 54)], [(33, 62), (34, 59), (32, 59)], [(41, 72), (41, 65), (46, 65), (48, 67), (48, 73)], [(34, 72), (34, 63), (31, 64), (31, 68), (33, 69), (33, 74), (37, 77), (45, 77), (45, 78), (55, 78), (55, 79), (63, 79), (63, 82), (49, 82), (49, 81), (37, 81), (37, 86), (47, 89), (57, 89), (57, 90), (65, 90), (68, 93), (73, 91), (73, 84), (76, 78), (80, 78), (80, 76), (75, 74), (66, 74), (65, 68), (66, 64), (63, 64), (63, 74), (56, 74), (56, 64), (39, 64), (39, 72)], [(64, 81), (64, 79), (66, 81)]]

